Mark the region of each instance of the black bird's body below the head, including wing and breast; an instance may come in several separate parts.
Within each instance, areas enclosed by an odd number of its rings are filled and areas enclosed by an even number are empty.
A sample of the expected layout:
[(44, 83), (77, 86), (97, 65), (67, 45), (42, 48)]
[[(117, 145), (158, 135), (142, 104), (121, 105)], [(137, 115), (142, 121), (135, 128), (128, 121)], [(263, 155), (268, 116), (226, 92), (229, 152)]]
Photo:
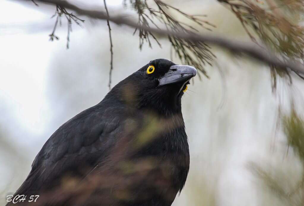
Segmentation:
[(54, 132), (16, 194), (46, 205), (171, 205), (188, 168), (182, 117), (101, 102)]

